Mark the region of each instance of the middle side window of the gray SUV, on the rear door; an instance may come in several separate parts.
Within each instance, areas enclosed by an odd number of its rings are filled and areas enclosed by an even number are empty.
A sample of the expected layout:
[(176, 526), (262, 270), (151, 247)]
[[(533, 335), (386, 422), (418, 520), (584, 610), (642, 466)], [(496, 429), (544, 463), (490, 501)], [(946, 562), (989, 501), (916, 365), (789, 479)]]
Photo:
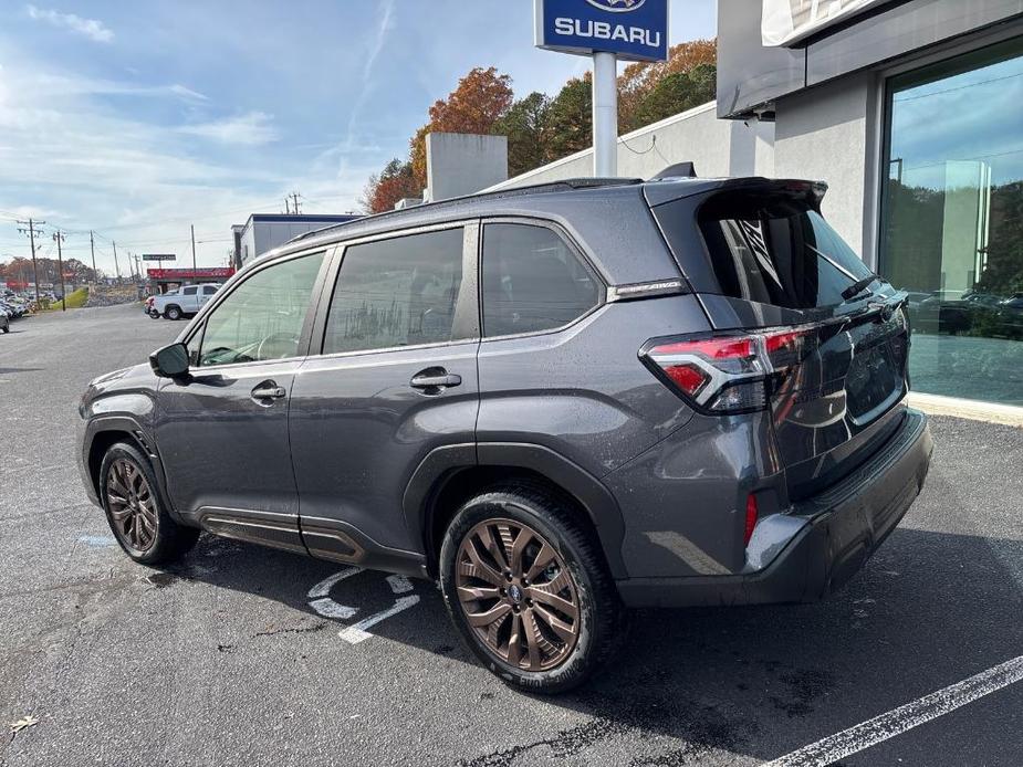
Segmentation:
[(451, 340), (462, 280), (461, 229), (345, 250), (323, 353)]

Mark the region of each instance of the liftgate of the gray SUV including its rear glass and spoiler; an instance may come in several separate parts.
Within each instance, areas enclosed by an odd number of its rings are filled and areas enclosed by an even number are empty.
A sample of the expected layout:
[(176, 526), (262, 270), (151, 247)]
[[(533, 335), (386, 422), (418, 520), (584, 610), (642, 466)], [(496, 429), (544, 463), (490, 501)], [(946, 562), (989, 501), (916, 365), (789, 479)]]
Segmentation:
[[(909, 390), (905, 294), (828, 225), (821, 193), (782, 182), (654, 209), (711, 325), (769, 330), (768, 395), (793, 500), (865, 460), (898, 427)], [(698, 238), (685, 250), (680, 217)]]

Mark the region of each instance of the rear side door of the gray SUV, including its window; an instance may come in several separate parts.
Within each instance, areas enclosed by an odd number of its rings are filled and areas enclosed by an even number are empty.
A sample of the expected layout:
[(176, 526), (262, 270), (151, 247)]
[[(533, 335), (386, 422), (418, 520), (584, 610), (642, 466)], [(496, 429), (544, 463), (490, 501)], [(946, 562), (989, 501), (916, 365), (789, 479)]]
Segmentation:
[[(348, 245), (320, 356), (295, 378), (290, 434), (310, 553), (370, 567), (421, 551), (403, 512), (434, 449), (474, 455), (474, 224)], [(317, 338), (313, 348), (317, 348)], [(397, 549), (397, 550), (395, 550)]]

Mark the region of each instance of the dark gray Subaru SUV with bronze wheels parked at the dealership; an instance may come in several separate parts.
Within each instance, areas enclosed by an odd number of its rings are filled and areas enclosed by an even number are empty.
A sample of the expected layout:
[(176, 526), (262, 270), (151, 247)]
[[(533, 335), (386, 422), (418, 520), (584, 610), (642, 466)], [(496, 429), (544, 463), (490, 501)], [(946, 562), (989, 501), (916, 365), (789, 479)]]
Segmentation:
[(916, 498), (906, 295), (824, 185), (586, 179), (303, 235), (147, 365), (81, 467), (146, 565), (215, 535), (440, 584), (482, 663), (580, 684), (629, 607), (818, 599)]

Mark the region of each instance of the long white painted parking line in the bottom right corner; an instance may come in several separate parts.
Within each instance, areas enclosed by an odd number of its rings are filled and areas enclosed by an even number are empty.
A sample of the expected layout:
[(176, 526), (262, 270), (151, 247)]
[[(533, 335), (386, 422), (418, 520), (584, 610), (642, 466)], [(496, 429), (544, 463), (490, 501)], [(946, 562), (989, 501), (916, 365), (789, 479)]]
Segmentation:
[(1023, 680), (1023, 655), (919, 697), (762, 767), (826, 767)]

